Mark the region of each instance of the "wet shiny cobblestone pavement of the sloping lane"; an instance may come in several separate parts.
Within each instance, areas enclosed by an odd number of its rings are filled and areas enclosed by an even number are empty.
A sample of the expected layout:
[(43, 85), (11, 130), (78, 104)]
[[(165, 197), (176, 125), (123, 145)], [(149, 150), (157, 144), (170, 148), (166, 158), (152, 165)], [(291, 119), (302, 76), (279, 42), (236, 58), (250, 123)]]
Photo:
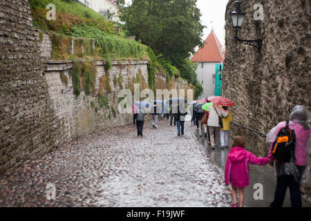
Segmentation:
[[(0, 175), (0, 206), (230, 206), (229, 188), (185, 122), (161, 120), (80, 138)], [(46, 199), (46, 185), (56, 200)]]

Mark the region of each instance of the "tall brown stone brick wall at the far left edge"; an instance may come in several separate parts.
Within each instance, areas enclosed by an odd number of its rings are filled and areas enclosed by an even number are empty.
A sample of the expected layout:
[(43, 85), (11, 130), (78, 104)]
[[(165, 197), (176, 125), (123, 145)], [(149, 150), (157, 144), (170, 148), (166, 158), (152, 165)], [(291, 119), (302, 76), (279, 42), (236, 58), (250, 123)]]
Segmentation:
[(28, 1), (0, 1), (0, 172), (58, 145), (38, 42)]

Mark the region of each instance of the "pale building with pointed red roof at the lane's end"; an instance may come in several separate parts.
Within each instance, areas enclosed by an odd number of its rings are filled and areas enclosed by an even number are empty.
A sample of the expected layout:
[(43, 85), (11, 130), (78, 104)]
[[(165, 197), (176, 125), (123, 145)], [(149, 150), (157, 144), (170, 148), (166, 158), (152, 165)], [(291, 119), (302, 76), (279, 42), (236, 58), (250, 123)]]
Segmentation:
[(204, 46), (199, 48), (191, 59), (192, 62), (198, 64), (196, 75), (203, 87), (203, 93), (199, 99), (214, 95), (216, 64), (223, 64), (224, 60), (225, 49), (220, 44), (214, 30), (211, 30), (211, 33), (205, 39)]

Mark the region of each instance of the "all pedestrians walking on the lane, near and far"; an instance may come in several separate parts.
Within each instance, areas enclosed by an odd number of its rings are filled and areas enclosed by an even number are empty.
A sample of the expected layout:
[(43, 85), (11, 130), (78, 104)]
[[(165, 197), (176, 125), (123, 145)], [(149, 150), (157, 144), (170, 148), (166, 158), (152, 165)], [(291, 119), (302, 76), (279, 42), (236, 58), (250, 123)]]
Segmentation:
[[(139, 110), (139, 111), (138, 111)], [(158, 127), (158, 115), (164, 115), (163, 111), (156, 109), (154, 104), (152, 126)], [(144, 108), (133, 109), (133, 124), (137, 125), (138, 136), (142, 136), (142, 128), (144, 126)], [(216, 104), (209, 106), (209, 111), (193, 111), (191, 124), (193, 122), (199, 129), (204, 129), (205, 137), (209, 136), (209, 144), (211, 148), (216, 148), (218, 142), (221, 148), (228, 147), (228, 131), (232, 122), (232, 113), (227, 106), (218, 106)], [(169, 107), (169, 115), (171, 117), (169, 123), (171, 126), (177, 126), (178, 136), (185, 134), (185, 117), (187, 111), (184, 105), (171, 105)], [(305, 169), (309, 166), (310, 153), (308, 151), (308, 140), (310, 139), (310, 112), (304, 106), (295, 106), (290, 113), (288, 122), (280, 122), (270, 133), (267, 133), (266, 142), (270, 143), (270, 151), (267, 157), (256, 157), (253, 153), (245, 150), (245, 139), (242, 136), (234, 137), (232, 148), (227, 155), (225, 165), (225, 184), (232, 185), (233, 207), (243, 207), (244, 204), (244, 188), (249, 186), (249, 164), (265, 165), (274, 162), (276, 170), (276, 190), (274, 193), (274, 201), (270, 204), (272, 207), (283, 206), (287, 189), (290, 189), (290, 200), (293, 207), (301, 207), (301, 191), (300, 182)], [(222, 125), (220, 123), (222, 121)], [(274, 149), (272, 147), (277, 138), (278, 133), (284, 128), (292, 129), (296, 134), (294, 157), (290, 162), (280, 162), (274, 157)]]

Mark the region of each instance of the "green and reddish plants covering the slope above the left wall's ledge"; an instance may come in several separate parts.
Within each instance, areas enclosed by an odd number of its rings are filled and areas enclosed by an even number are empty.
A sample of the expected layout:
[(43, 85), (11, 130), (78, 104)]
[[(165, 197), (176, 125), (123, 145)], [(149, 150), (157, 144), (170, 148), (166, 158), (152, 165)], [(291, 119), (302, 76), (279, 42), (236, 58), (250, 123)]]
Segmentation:
[[(53, 3), (56, 6), (56, 20), (46, 19), (46, 6)], [(93, 40), (101, 57), (109, 55), (113, 58), (135, 57), (144, 55), (145, 46), (138, 41), (132, 41), (116, 35), (114, 23), (106, 20), (90, 8), (73, 1), (62, 0), (30, 0), (32, 21), (35, 28), (52, 31), (62, 35), (92, 38), (75, 41), (75, 57), (98, 56), (92, 47)], [(52, 36), (53, 43), (59, 42), (59, 35)], [(68, 52), (70, 37), (63, 38), (62, 45), (57, 44), (53, 50), (53, 59), (64, 59)], [(62, 47), (64, 46), (64, 47)], [(76, 47), (77, 46), (77, 47)], [(84, 46), (84, 55), (82, 55)], [(54, 47), (54, 46), (53, 46)], [(77, 48), (77, 49), (76, 49)], [(59, 53), (57, 53), (59, 52)]]

